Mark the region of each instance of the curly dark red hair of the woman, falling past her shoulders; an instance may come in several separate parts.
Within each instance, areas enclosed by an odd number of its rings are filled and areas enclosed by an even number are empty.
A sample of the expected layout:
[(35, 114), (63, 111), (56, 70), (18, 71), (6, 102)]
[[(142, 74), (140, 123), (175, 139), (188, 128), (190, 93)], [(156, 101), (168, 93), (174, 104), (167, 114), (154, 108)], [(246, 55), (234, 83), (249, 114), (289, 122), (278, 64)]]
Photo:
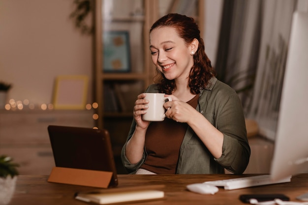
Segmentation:
[[(153, 29), (159, 27), (175, 28), (179, 36), (185, 40), (187, 45), (191, 43), (193, 39), (197, 39), (199, 41), (197, 52), (193, 56), (194, 64), (191, 67), (188, 80), (190, 92), (193, 94), (199, 94), (200, 89), (205, 88), (208, 85), (209, 80), (213, 76), (216, 76), (216, 72), (211, 65), (210, 59), (205, 53), (204, 41), (200, 37), (198, 25), (195, 23), (193, 18), (181, 14), (171, 13), (158, 19), (152, 25), (150, 33)], [(159, 92), (166, 94), (171, 94), (176, 87), (174, 80), (166, 79), (165, 76), (158, 70), (157, 75), (155, 76), (155, 83), (158, 84)]]

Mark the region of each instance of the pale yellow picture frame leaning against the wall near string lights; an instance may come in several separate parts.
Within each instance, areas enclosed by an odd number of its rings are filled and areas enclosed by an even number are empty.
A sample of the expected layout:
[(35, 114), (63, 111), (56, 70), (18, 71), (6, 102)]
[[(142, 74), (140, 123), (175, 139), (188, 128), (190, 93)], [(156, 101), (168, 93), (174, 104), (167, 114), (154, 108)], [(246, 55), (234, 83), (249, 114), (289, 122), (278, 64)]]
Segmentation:
[(56, 110), (83, 110), (87, 103), (88, 76), (58, 76), (53, 104)]

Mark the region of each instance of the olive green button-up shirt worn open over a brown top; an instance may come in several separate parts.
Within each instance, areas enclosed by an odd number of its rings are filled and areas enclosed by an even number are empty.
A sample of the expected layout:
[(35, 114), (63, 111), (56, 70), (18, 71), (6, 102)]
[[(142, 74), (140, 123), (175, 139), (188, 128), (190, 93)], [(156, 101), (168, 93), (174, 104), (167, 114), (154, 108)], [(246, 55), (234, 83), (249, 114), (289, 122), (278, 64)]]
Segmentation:
[[(157, 92), (157, 86), (151, 85), (146, 92)], [(216, 159), (188, 126), (180, 148), (176, 174), (223, 174), (224, 169), (242, 174), (249, 162), (250, 147), (242, 103), (237, 93), (213, 77), (208, 86), (201, 89), (196, 110), (223, 133), (222, 155)], [(127, 141), (134, 133), (135, 126), (133, 120)], [(126, 143), (122, 149), (122, 161), (125, 169), (133, 174), (145, 162), (147, 153), (144, 149), (142, 159), (137, 164), (131, 164), (125, 156)]]

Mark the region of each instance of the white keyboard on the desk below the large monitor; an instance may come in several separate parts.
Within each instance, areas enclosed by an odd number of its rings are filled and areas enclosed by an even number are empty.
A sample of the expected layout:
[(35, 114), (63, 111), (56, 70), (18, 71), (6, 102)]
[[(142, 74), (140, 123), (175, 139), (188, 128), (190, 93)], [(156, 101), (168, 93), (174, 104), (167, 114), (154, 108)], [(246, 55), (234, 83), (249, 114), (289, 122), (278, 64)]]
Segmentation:
[(214, 186), (223, 186), (224, 189), (232, 190), (232, 189), (241, 189), (251, 186), (284, 183), (290, 181), (291, 181), (291, 176), (283, 178), (281, 180), (272, 181), (270, 175), (260, 175), (260, 176), (246, 176), (240, 178), (206, 181), (204, 183)]

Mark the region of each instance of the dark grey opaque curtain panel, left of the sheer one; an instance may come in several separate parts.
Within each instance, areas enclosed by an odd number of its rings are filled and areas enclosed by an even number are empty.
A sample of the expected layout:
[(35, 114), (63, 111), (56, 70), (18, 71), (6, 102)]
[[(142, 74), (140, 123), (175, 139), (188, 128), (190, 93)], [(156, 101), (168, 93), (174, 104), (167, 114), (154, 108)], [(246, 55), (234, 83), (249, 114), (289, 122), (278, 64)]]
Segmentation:
[[(215, 68), (243, 105), (251, 101), (261, 36), (261, 0), (225, 0)], [(245, 112), (246, 113), (246, 112)]]

